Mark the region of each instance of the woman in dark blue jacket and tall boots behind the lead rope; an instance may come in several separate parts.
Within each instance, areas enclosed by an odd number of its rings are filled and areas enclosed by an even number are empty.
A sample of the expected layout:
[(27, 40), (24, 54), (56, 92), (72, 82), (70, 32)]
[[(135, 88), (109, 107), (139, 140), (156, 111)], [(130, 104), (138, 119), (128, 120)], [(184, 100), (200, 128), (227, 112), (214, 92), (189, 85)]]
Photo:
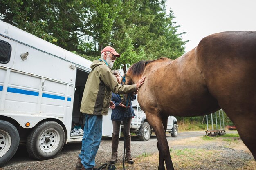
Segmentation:
[[(117, 70), (113, 70), (113, 74), (116, 76), (117, 82), (121, 84), (121, 76), (119, 72)], [(136, 95), (132, 95), (131, 100), (135, 100), (135, 99), (136, 99)], [(111, 120), (113, 124), (113, 133), (112, 133), (112, 146), (111, 146), (112, 157), (110, 159), (110, 163), (117, 162), (119, 131), (120, 131), (121, 121), (123, 121), (124, 134), (126, 132), (125, 160), (129, 164), (133, 164), (134, 161), (132, 160), (132, 157), (131, 157), (131, 135), (130, 135), (132, 117), (134, 116), (134, 109), (132, 108), (132, 102), (130, 102), (130, 105), (127, 107), (127, 110), (126, 110), (126, 106), (122, 104), (122, 98), (119, 94), (112, 93), (111, 100), (114, 102), (115, 108), (112, 110), (112, 114), (111, 114)], [(127, 118), (127, 125), (126, 125), (126, 118)]]

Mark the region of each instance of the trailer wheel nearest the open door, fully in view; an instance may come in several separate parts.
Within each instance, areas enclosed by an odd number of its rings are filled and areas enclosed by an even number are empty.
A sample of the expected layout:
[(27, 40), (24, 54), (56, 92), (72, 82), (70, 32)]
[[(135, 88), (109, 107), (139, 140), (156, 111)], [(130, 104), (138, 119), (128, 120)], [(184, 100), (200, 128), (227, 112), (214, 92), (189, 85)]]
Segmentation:
[(27, 137), (27, 152), (34, 159), (52, 159), (61, 151), (64, 141), (61, 125), (55, 121), (45, 121), (38, 124)]

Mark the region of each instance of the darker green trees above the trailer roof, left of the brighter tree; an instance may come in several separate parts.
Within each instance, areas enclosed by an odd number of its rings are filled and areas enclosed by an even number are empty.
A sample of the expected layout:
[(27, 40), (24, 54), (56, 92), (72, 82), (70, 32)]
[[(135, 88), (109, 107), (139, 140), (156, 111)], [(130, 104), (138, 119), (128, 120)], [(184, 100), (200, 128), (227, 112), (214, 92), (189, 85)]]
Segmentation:
[[(79, 42), (94, 45), (109, 39), (119, 0), (0, 1), (0, 19), (69, 51)], [(89, 40), (87, 40), (89, 39)], [(90, 40), (92, 39), (92, 41)], [(56, 41), (57, 40), (57, 41)], [(98, 51), (98, 48), (94, 50)], [(92, 49), (90, 49), (92, 50)], [(79, 51), (86, 53), (86, 51)]]

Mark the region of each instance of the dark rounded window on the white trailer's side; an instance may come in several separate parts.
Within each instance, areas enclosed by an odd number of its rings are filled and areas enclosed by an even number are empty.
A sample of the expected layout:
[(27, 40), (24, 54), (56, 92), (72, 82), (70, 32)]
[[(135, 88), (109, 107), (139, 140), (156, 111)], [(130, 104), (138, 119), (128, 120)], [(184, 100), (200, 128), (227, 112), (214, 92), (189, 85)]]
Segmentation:
[(7, 42), (0, 40), (0, 63), (8, 63), (11, 56), (11, 46)]

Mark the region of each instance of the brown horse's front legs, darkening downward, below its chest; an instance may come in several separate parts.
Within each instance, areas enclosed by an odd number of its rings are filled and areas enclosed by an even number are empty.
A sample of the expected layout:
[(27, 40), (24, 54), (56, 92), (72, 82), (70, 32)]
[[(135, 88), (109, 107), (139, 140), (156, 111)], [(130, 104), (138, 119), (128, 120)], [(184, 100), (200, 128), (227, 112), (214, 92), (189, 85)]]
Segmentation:
[[(168, 118), (162, 119), (159, 115), (147, 113), (147, 120), (150, 126), (155, 131), (157, 136), (157, 148), (159, 151), (159, 166), (158, 170), (165, 170), (164, 161), (167, 170), (174, 170), (173, 163), (171, 161), (171, 155), (169, 150), (168, 141), (166, 139), (166, 128)], [(166, 128), (164, 128), (166, 126)]]

